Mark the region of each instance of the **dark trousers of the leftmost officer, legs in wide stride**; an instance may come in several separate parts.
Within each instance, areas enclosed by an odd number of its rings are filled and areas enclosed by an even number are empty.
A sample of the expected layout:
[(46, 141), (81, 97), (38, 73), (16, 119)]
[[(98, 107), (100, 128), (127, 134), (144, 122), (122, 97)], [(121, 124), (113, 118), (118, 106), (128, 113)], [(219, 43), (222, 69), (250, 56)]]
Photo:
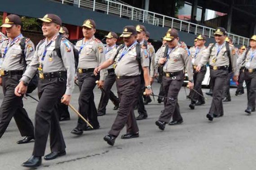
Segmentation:
[(14, 94), (21, 77), (21, 75), (2, 76), (4, 99), (0, 107), (0, 138), (12, 118), (18, 126), (21, 136), (34, 136), (34, 126), (23, 108), (22, 97)]

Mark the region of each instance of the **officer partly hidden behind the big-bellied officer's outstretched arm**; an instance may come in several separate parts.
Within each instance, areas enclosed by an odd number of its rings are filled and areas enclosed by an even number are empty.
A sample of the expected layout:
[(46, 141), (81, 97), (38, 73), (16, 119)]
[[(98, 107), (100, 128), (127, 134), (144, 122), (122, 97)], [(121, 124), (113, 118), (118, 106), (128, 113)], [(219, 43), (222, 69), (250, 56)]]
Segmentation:
[[(116, 41), (117, 41), (117, 34), (115, 32), (110, 31), (106, 37), (106, 48), (104, 50), (105, 59), (108, 60), (111, 55), (116, 52)], [(104, 90), (102, 90), (101, 100), (98, 106), (98, 116), (106, 115), (106, 106), (108, 100), (110, 99), (113, 104), (115, 105), (114, 110), (119, 108), (119, 99), (115, 96), (115, 94), (111, 91), (113, 84), (115, 83), (115, 69), (113, 64), (107, 68), (108, 75), (104, 81)]]

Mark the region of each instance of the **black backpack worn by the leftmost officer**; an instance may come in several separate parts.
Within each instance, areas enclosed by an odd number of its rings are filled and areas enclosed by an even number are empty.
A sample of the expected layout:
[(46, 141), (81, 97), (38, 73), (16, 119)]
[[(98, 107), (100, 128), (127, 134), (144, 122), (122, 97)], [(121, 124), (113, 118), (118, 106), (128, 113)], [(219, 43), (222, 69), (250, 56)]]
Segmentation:
[[(22, 49), (22, 55), (21, 55), (21, 59), (19, 61), (19, 63), (21, 64), (22, 63), (22, 60), (24, 62), (24, 69), (23, 69), (23, 72), (26, 71), (26, 55), (25, 55), (25, 46), (26, 46), (26, 37), (22, 38), (21, 41), (20, 41), (20, 47)], [(31, 81), (29, 82), (28, 86), (27, 86), (27, 91), (26, 93), (32, 93), (36, 88), (37, 88), (37, 85), (38, 85), (38, 74), (36, 73), (35, 76), (33, 76), (33, 78), (31, 79)]]

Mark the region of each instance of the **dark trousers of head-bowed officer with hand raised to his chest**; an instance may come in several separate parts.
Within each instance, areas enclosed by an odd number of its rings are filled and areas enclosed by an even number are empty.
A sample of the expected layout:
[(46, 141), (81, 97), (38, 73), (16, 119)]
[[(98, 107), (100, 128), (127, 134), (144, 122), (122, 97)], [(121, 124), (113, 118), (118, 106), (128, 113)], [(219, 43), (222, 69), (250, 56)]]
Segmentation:
[(182, 119), (180, 113), (180, 106), (178, 104), (178, 94), (182, 87), (184, 80), (183, 71), (176, 76), (176, 79), (172, 77), (163, 76), (163, 90), (168, 97), (164, 102), (163, 113), (159, 116), (159, 120), (165, 123), (169, 123), (172, 116), (173, 120)]

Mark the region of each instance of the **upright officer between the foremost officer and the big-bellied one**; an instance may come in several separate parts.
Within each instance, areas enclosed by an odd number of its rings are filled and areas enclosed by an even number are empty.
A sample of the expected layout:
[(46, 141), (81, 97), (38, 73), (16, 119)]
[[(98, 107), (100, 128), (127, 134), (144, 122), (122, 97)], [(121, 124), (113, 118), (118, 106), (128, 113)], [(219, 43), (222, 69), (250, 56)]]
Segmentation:
[[(96, 24), (92, 19), (84, 21), (83, 25), (84, 38), (80, 39), (75, 48), (79, 51), (78, 62), (78, 82), (79, 82), (79, 113), (86, 118), (93, 126), (93, 129), (100, 128), (97, 119), (97, 109), (94, 103), (93, 89), (96, 86), (95, 81), (99, 80), (98, 87), (104, 85), (107, 70), (102, 70), (100, 75), (93, 74), (94, 68), (105, 61), (103, 43), (94, 37)], [(82, 135), (83, 131), (93, 130), (86, 126), (84, 120), (78, 118), (77, 126), (71, 131), (75, 135)]]

